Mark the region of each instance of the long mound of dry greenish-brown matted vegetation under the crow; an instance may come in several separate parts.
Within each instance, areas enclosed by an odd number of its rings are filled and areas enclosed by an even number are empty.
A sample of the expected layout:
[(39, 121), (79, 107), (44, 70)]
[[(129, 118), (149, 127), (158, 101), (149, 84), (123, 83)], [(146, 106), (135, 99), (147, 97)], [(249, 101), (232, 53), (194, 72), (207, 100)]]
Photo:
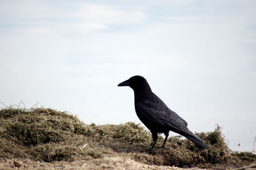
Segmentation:
[(148, 154), (150, 132), (135, 123), (85, 125), (76, 116), (53, 109), (31, 108), (0, 110), (0, 160), (29, 158), (44, 162), (127, 157), (154, 166), (240, 167), (255, 162), (251, 153), (232, 153), (220, 127), (197, 134), (208, 146), (197, 148), (191, 141), (170, 137), (166, 148)]

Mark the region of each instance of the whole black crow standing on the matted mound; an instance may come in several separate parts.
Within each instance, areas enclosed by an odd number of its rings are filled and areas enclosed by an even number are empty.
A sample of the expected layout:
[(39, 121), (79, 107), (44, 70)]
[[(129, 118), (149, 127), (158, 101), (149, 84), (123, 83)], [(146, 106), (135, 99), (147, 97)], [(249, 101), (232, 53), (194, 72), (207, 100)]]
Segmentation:
[(187, 137), (200, 148), (207, 148), (207, 145), (202, 139), (187, 128), (188, 123), (180, 118), (176, 112), (169, 109), (164, 102), (152, 92), (144, 77), (136, 75), (127, 81), (121, 82), (118, 86), (129, 86), (134, 91), (135, 111), (138, 118), (152, 133), (154, 141), (149, 152), (151, 152), (156, 145), (157, 133), (164, 133), (165, 135), (162, 146), (162, 148), (164, 148), (170, 130)]

